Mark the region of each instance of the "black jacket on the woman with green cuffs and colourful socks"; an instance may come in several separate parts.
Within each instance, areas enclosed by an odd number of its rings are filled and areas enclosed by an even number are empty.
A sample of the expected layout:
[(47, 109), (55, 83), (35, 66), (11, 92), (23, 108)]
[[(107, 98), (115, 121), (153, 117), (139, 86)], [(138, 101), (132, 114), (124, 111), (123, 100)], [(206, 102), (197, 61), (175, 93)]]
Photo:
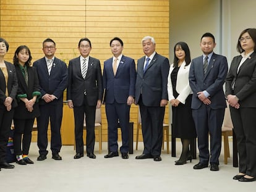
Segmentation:
[[(25, 78), (23, 77), (22, 70), (20, 70), (19, 65), (15, 66), (17, 80), (19, 83), (19, 88), (17, 94), (27, 94), (27, 99), (33, 99), (33, 92), (39, 91), (39, 82), (36, 73), (36, 69), (34, 67), (27, 67), (28, 71), (28, 86), (25, 82)], [(33, 106), (33, 111), (28, 112), (25, 102), (19, 101), (18, 106), (15, 108), (14, 119), (33, 119), (39, 116), (39, 106), (38, 102), (35, 102)]]

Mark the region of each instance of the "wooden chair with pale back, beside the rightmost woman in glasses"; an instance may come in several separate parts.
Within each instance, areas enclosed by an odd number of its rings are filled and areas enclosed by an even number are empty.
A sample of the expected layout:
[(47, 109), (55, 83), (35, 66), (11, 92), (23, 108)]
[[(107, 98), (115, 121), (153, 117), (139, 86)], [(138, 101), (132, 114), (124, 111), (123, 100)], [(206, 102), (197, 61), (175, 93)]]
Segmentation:
[(223, 126), (221, 128), (221, 135), (223, 136), (224, 143), (224, 164), (228, 164), (228, 157), (230, 157), (228, 137), (233, 136), (233, 123), (229, 111), (229, 104), (227, 104), (227, 106), (228, 107), (225, 109)]

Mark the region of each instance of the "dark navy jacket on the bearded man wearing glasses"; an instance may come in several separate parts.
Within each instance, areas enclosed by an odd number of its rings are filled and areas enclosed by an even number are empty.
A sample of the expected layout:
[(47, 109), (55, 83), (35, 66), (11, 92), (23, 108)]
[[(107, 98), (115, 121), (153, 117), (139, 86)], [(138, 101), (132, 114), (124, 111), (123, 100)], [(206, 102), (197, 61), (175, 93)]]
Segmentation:
[[(39, 80), (41, 96), (46, 93), (54, 94), (58, 99), (54, 99), (49, 104), (62, 104), (63, 91), (67, 88), (67, 65), (60, 59), (54, 57), (51, 74), (48, 74), (45, 57), (34, 62)], [(40, 99), (40, 104), (46, 104), (45, 100)]]

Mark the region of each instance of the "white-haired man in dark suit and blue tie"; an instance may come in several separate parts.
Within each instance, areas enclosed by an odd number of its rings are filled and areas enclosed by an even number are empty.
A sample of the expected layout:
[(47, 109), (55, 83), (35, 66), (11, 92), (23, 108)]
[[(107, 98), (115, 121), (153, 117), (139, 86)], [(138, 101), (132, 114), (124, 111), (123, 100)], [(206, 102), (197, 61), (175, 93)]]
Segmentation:
[(163, 119), (168, 104), (169, 60), (155, 52), (153, 37), (145, 36), (142, 46), (145, 56), (137, 64), (135, 104), (140, 106), (144, 150), (135, 159), (153, 158), (154, 161), (161, 161)]

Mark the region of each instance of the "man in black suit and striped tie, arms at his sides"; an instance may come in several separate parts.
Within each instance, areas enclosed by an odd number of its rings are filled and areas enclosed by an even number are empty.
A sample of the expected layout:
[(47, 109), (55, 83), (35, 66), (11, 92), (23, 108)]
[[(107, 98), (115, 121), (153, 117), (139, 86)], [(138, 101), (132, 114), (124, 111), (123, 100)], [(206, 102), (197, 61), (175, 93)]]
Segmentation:
[[(103, 96), (100, 61), (90, 57), (91, 41), (82, 38), (78, 49), (80, 56), (69, 62), (69, 86), (67, 101), (70, 109), (74, 109), (75, 117), (75, 151), (74, 159), (83, 157), (83, 121), (86, 122), (87, 156), (95, 159), (95, 111), (101, 107)], [(85, 115), (84, 115), (85, 114)], [(85, 116), (85, 117), (84, 117)]]

